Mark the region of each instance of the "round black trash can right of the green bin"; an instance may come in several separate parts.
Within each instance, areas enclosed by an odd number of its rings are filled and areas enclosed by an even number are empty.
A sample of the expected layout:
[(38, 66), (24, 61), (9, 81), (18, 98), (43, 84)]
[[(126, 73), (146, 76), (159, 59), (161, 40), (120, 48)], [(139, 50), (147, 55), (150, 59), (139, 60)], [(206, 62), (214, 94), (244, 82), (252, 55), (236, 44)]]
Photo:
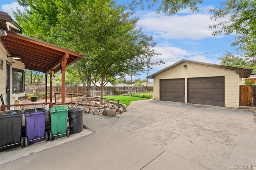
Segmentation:
[(68, 120), (71, 133), (79, 133), (83, 130), (84, 109), (76, 107), (68, 110)]

